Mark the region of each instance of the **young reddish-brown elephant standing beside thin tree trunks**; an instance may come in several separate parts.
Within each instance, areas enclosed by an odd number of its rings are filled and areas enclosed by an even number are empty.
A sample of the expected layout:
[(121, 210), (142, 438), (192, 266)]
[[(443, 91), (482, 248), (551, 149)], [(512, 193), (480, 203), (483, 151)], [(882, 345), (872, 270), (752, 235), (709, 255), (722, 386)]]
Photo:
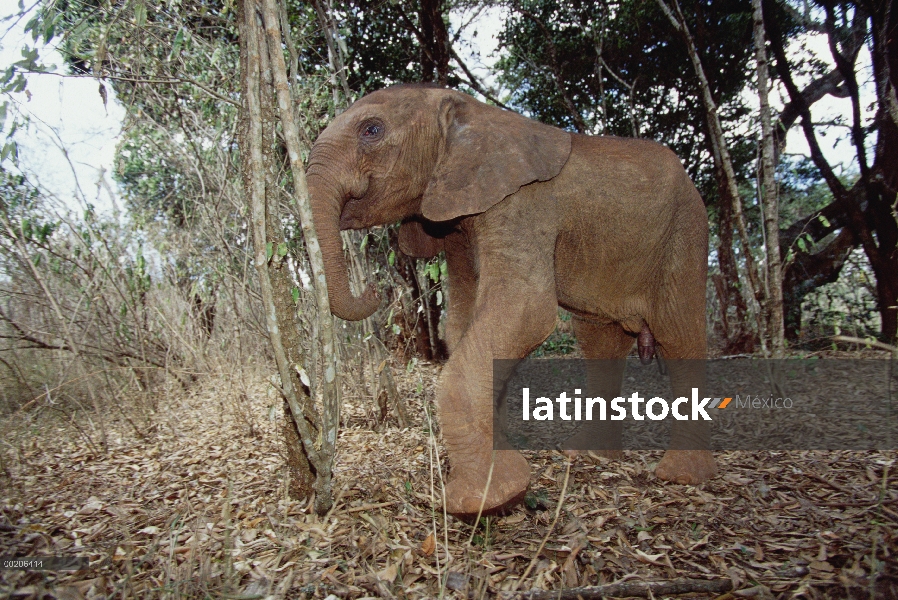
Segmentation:
[[(406, 254), (445, 252), (449, 359), (436, 399), (452, 514), (523, 498), (529, 463), (493, 449), (492, 359), (526, 357), (554, 331), (558, 306), (586, 358), (622, 359), (638, 336), (641, 355), (706, 357), (707, 213), (658, 143), (575, 134), (405, 84), (362, 97), (321, 132), (307, 183), (337, 317), (364, 319), (380, 302), (373, 284), (350, 289), (340, 230), (401, 223)], [(671, 380), (688, 395), (688, 377)], [(656, 475), (713, 477), (707, 441), (700, 425), (675, 422)]]

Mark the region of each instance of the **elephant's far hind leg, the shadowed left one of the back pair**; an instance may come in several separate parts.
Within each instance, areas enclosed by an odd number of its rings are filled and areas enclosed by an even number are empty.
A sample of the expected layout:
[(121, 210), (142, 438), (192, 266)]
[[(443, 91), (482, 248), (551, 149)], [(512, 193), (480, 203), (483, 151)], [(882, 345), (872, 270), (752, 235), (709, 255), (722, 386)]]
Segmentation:
[[(620, 395), (626, 357), (633, 348), (633, 336), (619, 323), (596, 323), (574, 317), (574, 335), (588, 359), (586, 393), (611, 401)], [(568, 456), (593, 450), (598, 456), (620, 458), (623, 424), (620, 421), (588, 421), (564, 443)]]

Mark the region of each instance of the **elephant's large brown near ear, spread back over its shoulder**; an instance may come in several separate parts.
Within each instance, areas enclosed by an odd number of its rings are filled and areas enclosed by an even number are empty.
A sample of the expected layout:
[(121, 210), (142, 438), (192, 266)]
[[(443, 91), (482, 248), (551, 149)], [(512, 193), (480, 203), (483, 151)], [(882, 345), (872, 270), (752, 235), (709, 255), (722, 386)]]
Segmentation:
[(440, 104), (444, 145), (421, 203), (426, 219), (482, 213), (521, 186), (552, 179), (567, 162), (568, 132), (450, 94)]

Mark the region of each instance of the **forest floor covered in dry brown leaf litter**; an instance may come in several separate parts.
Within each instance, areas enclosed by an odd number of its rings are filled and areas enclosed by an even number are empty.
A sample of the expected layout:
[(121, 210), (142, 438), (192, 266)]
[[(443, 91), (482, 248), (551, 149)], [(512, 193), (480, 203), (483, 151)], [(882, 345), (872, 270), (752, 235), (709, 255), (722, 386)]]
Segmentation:
[(472, 527), (442, 512), (425, 410), (437, 371), (399, 375), (405, 429), (374, 431), (370, 399), (347, 393), (324, 517), (286, 495), (281, 403), (259, 374), (173, 388), (142, 416), (110, 411), (106, 452), (79, 434), (88, 424), (14, 415), (0, 554), (90, 566), (0, 570), (0, 597), (561, 597), (675, 578), (689, 580), (678, 597), (898, 597), (898, 452), (721, 452), (699, 486), (656, 478), (657, 451), (530, 452), (526, 502)]

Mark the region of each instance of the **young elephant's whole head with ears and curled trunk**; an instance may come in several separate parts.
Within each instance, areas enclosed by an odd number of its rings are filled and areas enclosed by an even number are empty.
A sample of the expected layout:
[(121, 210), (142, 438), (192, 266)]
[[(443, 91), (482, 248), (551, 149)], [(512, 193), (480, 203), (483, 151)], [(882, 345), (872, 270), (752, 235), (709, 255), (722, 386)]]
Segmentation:
[(444, 88), (401, 85), (354, 103), (318, 137), (307, 170), (331, 311), (360, 320), (379, 304), (371, 285), (350, 291), (341, 229), (402, 221), (401, 249), (433, 256), (442, 245), (431, 223), (555, 177), (570, 149), (560, 129)]

